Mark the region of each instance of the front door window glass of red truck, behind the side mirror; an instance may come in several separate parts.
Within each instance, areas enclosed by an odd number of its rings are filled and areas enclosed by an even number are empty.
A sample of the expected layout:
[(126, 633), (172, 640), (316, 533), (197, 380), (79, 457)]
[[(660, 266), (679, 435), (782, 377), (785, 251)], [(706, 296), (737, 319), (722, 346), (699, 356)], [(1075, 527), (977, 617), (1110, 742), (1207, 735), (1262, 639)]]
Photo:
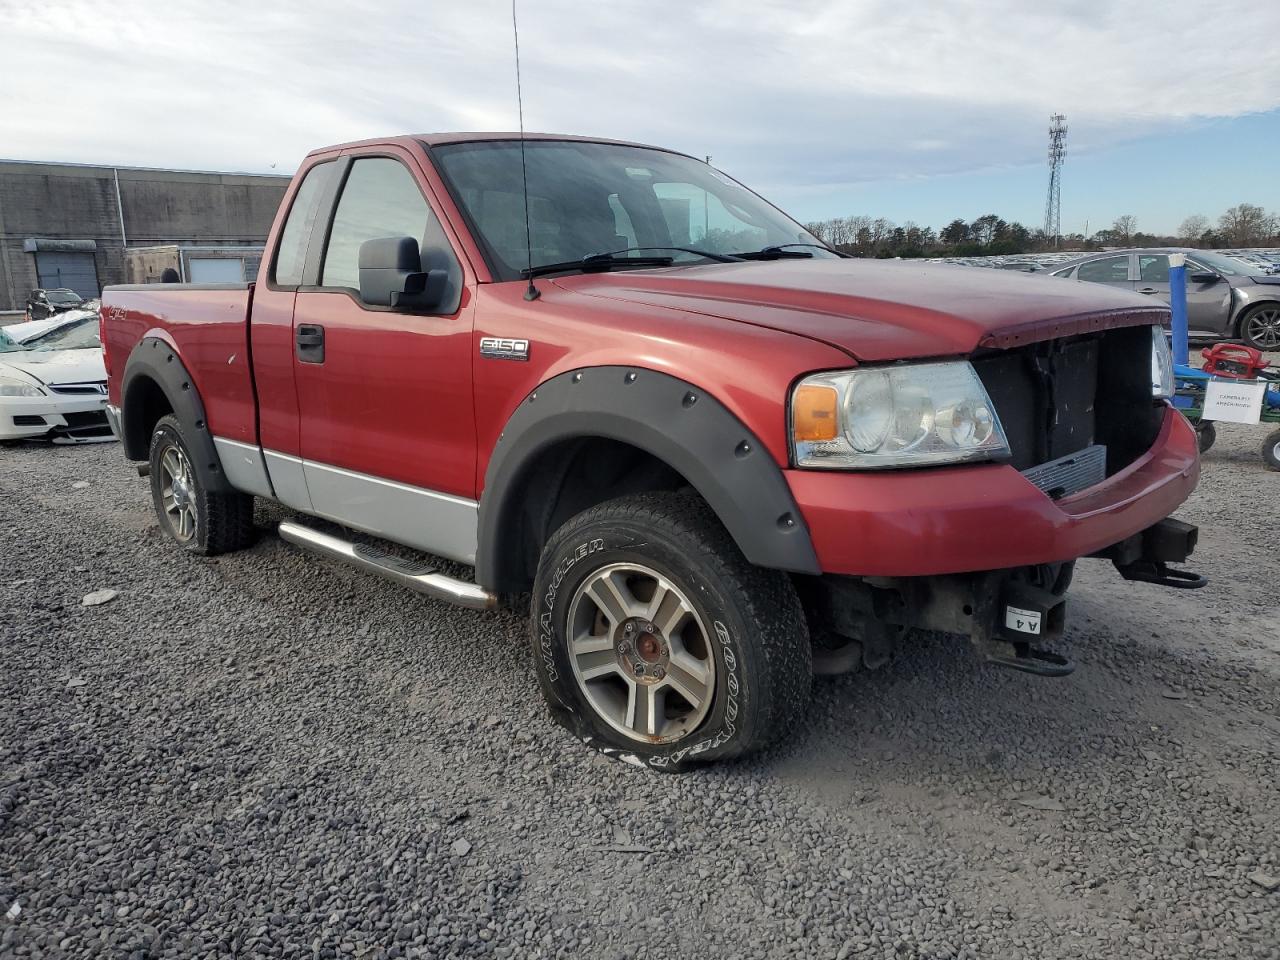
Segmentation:
[(449, 276), (438, 312), (452, 314), (457, 310), (462, 266), (440, 221), (431, 212), (413, 175), (399, 160), (370, 156), (352, 164), (342, 188), (320, 284), (358, 291), (360, 244), (380, 237), (416, 239), (422, 252), (422, 269), (444, 270)]

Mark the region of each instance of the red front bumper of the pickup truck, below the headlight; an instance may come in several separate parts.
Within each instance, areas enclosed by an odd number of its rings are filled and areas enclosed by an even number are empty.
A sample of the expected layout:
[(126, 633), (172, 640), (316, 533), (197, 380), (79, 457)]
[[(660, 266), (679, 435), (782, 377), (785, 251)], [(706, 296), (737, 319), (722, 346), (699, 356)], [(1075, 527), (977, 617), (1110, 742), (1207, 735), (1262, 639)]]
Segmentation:
[(1196, 488), (1196, 431), (1172, 407), (1151, 449), (1060, 500), (1014, 467), (786, 472), (824, 573), (933, 576), (1059, 563), (1170, 516)]

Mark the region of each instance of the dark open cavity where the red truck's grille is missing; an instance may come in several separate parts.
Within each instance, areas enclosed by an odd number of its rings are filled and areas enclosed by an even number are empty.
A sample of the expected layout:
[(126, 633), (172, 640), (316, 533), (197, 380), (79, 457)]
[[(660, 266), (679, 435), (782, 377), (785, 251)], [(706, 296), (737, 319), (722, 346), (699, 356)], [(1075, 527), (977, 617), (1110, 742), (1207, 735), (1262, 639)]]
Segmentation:
[[(1106, 476), (1151, 449), (1164, 404), (1151, 397), (1151, 329), (1115, 330), (1029, 343), (975, 356), (1018, 470), (1094, 445)], [(1065, 494), (1069, 495), (1069, 494)]]

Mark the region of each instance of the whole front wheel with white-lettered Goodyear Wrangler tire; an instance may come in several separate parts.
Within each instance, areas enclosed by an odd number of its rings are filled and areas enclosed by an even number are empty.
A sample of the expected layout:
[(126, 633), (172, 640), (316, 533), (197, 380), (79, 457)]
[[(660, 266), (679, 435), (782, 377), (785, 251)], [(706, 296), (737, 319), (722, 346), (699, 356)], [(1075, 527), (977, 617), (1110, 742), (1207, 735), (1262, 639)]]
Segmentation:
[(538, 566), (532, 644), (556, 719), (655, 769), (756, 750), (809, 700), (791, 581), (748, 563), (690, 494), (609, 500), (557, 530)]

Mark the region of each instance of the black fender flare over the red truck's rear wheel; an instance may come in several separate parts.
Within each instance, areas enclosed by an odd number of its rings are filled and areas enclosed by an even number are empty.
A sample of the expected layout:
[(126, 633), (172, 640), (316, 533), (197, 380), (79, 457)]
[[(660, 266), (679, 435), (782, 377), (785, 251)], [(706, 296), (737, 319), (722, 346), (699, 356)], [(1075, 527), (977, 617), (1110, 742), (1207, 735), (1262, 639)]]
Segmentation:
[[(196, 381), (178, 351), (159, 337), (143, 337), (124, 365), (124, 376), (120, 379), (120, 440), (124, 456), (136, 461), (150, 457), (151, 431), (143, 420), (147, 411), (138, 402), (143, 380), (155, 381), (169, 401), (173, 415), (178, 417), (183, 434), (192, 445), (191, 456), (200, 458), (207, 467), (202, 471), (207, 477), (205, 486), (212, 493), (230, 490), (212, 434), (209, 433), (205, 404), (200, 399)], [(129, 402), (131, 397), (133, 403)]]

